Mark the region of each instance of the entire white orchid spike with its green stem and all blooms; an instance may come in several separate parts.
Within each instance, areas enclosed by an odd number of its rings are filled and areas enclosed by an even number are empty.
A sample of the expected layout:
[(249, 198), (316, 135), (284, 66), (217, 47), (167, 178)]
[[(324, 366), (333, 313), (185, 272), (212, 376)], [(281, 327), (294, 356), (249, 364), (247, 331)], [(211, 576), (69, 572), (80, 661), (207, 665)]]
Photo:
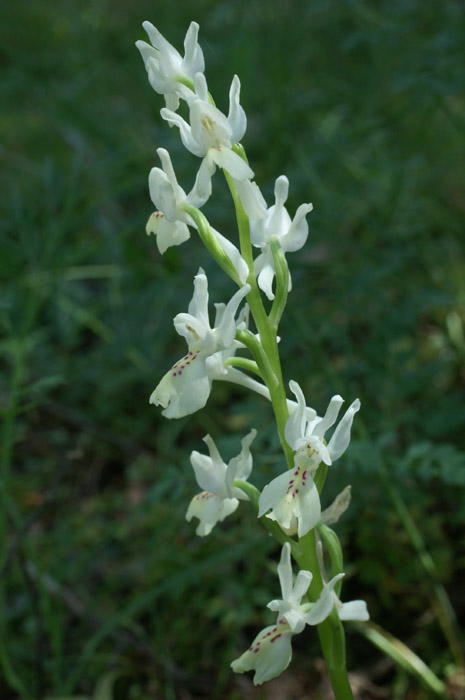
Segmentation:
[[(278, 352), (277, 330), (292, 287), (286, 254), (304, 246), (306, 217), (312, 205), (301, 204), (291, 218), (285, 206), (289, 182), (284, 175), (276, 180), (274, 203), (267, 205), (240, 143), (247, 119), (240, 104), (239, 78), (232, 79), (226, 115), (208, 91), (198, 25), (192, 22), (187, 31), (184, 56), (152, 24), (144, 22), (143, 26), (150, 43), (138, 41), (136, 45), (151, 86), (165, 98), (161, 117), (179, 129), (185, 148), (201, 159), (193, 187), (186, 194), (169, 153), (158, 149), (161, 168), (154, 167), (149, 175), (156, 211), (147, 222), (147, 234), (155, 236), (163, 254), (196, 231), (238, 287), (229, 301), (215, 304), (212, 322), (207, 276), (202, 268), (198, 270), (187, 313), (174, 318), (187, 352), (161, 379), (150, 402), (161, 406), (167, 418), (181, 418), (205, 406), (213, 381), (243, 386), (271, 404), (283, 449), (281, 473), (261, 492), (249, 482), (254, 429), (243, 437), (239, 453), (228, 464), (210, 435), (204, 437), (208, 454), (194, 451), (190, 457), (201, 491), (192, 498), (186, 518), (198, 520), (199, 536), (209, 535), (237, 510), (240, 501), (248, 501), (282, 545), (277, 567), (282, 598), (268, 604), (277, 615), (275, 624), (265, 627), (231, 665), (238, 673), (255, 671), (255, 683), (268, 681), (289, 665), (292, 637), (307, 626), (318, 626), (336, 697), (351, 697), (341, 621), (367, 620), (368, 612), (363, 601), (340, 601), (342, 553), (329, 527), (348, 507), (350, 487), (323, 511), (320, 496), (328, 468), (349, 445), (360, 402), (355, 399), (338, 422), (341, 396), (333, 396), (322, 416), (307, 405), (295, 380), (289, 383), (294, 398), (288, 398)], [(188, 120), (178, 112), (181, 103), (185, 103)], [(218, 169), (233, 198), (238, 246), (216, 231), (201, 212), (212, 195)], [(249, 329), (250, 317), (255, 332)], [(236, 356), (238, 350), (251, 357)], [(299, 567), (295, 581), (291, 555)], [(326, 574), (328, 563), (331, 577)]]

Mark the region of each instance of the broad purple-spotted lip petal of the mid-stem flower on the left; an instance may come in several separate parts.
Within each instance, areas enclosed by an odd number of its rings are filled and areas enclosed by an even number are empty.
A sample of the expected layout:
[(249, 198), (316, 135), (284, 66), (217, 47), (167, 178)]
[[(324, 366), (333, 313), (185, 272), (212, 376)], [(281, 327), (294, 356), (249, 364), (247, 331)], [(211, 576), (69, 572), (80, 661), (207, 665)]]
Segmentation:
[(150, 396), (150, 403), (163, 406), (166, 418), (182, 418), (203, 408), (210, 396), (211, 381), (205, 360), (186, 355), (165, 374)]

